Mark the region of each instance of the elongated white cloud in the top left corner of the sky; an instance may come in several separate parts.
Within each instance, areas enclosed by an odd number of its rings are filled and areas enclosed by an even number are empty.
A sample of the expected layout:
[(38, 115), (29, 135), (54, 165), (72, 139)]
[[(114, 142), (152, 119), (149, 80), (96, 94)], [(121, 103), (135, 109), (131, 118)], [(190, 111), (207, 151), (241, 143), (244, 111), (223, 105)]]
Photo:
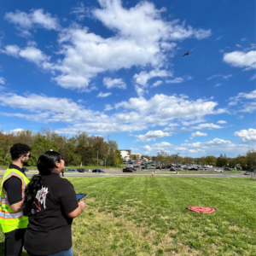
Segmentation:
[(58, 30), (58, 19), (44, 14), (44, 9), (32, 9), (30, 14), (16, 10), (15, 13), (6, 13), (4, 18), (10, 23), (20, 26), (22, 29), (32, 29), (33, 26), (41, 26), (47, 30)]

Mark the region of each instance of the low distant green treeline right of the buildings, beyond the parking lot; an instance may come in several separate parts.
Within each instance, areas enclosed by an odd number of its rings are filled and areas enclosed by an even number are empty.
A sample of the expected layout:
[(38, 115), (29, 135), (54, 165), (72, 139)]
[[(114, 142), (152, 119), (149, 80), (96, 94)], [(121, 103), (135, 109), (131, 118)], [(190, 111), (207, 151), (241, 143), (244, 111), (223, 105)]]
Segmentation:
[(161, 150), (153, 160), (163, 163), (163, 164), (197, 164), (197, 165), (211, 165), (218, 167), (230, 167), (241, 166), (242, 170), (253, 171), (256, 169), (256, 150), (250, 149), (247, 154), (238, 154), (235, 158), (227, 157), (225, 154), (220, 154), (219, 157), (213, 155), (202, 156), (201, 158), (192, 158), (189, 156), (182, 157), (178, 155), (177, 160), (175, 159), (175, 154), (167, 154), (165, 151)]

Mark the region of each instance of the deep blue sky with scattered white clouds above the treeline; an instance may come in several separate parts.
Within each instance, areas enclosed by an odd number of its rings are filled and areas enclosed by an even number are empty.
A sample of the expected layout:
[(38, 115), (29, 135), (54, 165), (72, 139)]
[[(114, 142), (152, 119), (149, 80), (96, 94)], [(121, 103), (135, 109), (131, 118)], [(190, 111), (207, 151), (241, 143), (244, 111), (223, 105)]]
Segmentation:
[(149, 155), (245, 154), (256, 143), (254, 10), (2, 1), (0, 129), (85, 131)]

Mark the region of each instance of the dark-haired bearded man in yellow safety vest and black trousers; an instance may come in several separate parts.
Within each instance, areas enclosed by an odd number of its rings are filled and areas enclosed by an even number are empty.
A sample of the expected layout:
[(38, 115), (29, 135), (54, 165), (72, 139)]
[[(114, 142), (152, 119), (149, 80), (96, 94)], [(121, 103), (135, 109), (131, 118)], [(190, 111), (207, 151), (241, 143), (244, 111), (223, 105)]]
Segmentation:
[(16, 143), (10, 148), (12, 163), (3, 175), (0, 197), (0, 226), (3, 230), (4, 256), (20, 256), (28, 218), (20, 210), (29, 180), (22, 170), (30, 159), (31, 148)]

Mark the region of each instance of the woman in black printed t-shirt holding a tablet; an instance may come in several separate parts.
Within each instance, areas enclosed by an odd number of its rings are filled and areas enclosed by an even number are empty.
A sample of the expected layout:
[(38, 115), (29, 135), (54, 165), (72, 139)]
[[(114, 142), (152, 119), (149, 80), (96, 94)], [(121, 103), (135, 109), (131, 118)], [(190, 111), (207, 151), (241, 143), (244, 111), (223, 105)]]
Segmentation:
[(28, 216), (24, 247), (30, 256), (72, 256), (71, 224), (84, 210), (78, 202), (72, 183), (61, 178), (64, 159), (55, 151), (47, 151), (38, 159), (38, 175), (26, 187), (22, 206)]

